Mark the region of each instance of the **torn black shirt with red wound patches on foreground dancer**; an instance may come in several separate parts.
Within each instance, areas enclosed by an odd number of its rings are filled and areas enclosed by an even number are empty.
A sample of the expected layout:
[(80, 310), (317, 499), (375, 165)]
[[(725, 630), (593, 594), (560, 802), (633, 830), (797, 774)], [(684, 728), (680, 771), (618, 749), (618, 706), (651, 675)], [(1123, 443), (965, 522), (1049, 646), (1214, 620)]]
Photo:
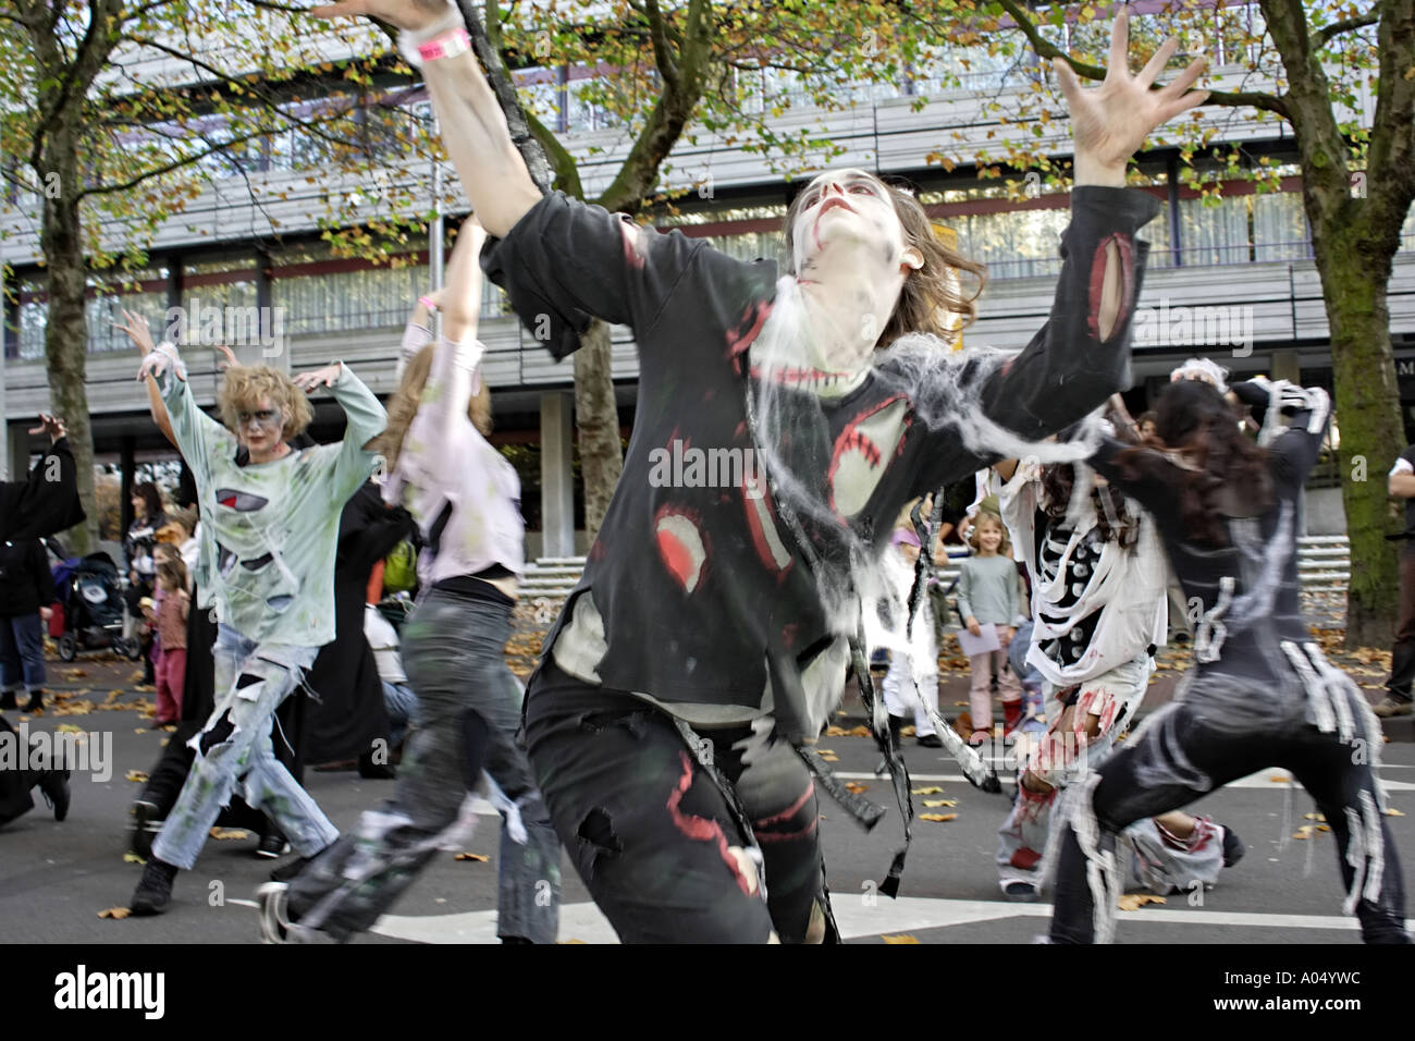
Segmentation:
[[(989, 419), (1027, 439), (1129, 382), (1129, 322), (1148, 252), (1136, 231), (1159, 204), (1102, 187), (1077, 188), (1071, 203), (1049, 322), (1000, 370), (965, 363), (958, 377), (976, 384)], [(1112, 241), (1121, 310), (1102, 341)], [(648, 697), (688, 722), (771, 712), (788, 739), (815, 736), (821, 705), (841, 695), (843, 642), (770, 490), (744, 465), (754, 442), (743, 365), (771, 313), (775, 265), (736, 261), (556, 193), (490, 241), (483, 266), (558, 358), (574, 350), (590, 316), (628, 326), (638, 346), (624, 474), (545, 650), (565, 671)], [(841, 521), (879, 548), (907, 501), (1000, 457), (965, 448), (957, 428), (920, 422), (916, 406), (928, 402), (901, 395), (891, 375), (877, 368), (848, 395), (822, 399), (824, 429), (812, 432), (826, 439), (822, 482), (841, 470), (873, 482), (842, 504)]]

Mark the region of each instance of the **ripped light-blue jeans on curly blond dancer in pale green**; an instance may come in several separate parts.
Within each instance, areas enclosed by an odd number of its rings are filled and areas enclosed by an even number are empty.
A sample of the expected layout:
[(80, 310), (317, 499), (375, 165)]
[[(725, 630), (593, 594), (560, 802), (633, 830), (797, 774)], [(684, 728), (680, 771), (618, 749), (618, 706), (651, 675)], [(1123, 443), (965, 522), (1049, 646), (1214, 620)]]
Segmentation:
[(212, 656), (216, 707), (191, 739), (197, 756), (177, 804), (153, 843), (168, 864), (191, 868), (238, 780), (249, 806), (265, 810), (301, 857), (313, 857), (340, 833), (275, 758), (270, 718), (299, 686), (318, 647), (256, 643), (221, 626)]

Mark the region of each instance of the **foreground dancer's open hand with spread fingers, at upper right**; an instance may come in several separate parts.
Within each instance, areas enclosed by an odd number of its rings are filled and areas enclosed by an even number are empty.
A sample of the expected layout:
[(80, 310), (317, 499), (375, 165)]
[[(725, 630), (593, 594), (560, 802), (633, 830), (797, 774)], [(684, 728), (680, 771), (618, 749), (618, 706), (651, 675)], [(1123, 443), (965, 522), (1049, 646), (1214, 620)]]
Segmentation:
[(1111, 25), (1111, 57), (1105, 79), (1098, 88), (1085, 89), (1064, 58), (1053, 58), (1061, 93), (1071, 112), (1071, 136), (1075, 140), (1077, 181), (1082, 166), (1124, 173), (1131, 156), (1160, 123), (1208, 99), (1208, 91), (1189, 91), (1207, 64), (1196, 58), (1174, 81), (1159, 91), (1150, 85), (1179, 47), (1173, 37), (1160, 44), (1138, 75), (1129, 71), (1129, 17), (1122, 11)]

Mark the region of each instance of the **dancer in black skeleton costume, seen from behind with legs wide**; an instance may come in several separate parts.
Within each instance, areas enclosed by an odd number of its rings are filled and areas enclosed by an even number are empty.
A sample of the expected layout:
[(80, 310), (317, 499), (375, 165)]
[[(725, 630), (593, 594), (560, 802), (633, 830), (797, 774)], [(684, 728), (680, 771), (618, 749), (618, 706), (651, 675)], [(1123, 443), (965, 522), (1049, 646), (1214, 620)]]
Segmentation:
[[(1337, 840), (1346, 912), (1368, 943), (1405, 943), (1399, 858), (1375, 775), (1381, 727), (1361, 691), (1312, 640), (1299, 605), (1298, 507), (1330, 422), (1327, 395), (1252, 380), (1230, 388), (1254, 409), (1258, 443), (1208, 381), (1160, 395), (1140, 446), (1105, 438), (1091, 466), (1159, 525), (1184, 596), (1201, 606), (1194, 667), (1169, 705), (1063, 809), (1054, 943), (1111, 939), (1116, 834), (1266, 766), (1286, 766)], [(1290, 422), (1282, 428), (1281, 415)]]

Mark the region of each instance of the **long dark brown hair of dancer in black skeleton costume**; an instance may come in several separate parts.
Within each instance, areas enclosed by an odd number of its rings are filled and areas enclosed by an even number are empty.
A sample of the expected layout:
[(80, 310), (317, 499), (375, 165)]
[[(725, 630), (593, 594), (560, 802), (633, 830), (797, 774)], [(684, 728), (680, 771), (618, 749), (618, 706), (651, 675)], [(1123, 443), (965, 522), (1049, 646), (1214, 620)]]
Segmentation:
[[(1272, 504), (1268, 450), (1245, 438), (1238, 411), (1218, 389), (1200, 380), (1169, 384), (1155, 406), (1155, 433), (1116, 455), (1129, 479), (1150, 477), (1179, 487), (1180, 517), (1190, 540), (1228, 545), (1225, 503), (1266, 510)], [(1189, 466), (1169, 459), (1184, 452)]]

